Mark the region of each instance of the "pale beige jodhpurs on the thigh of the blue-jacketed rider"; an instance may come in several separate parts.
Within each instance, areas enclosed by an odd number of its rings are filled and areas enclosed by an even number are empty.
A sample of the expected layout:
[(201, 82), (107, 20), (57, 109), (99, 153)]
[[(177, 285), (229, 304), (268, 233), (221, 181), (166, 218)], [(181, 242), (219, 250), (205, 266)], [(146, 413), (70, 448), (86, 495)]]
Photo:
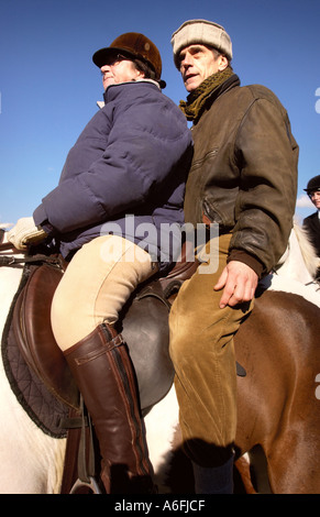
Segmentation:
[(52, 327), (65, 351), (99, 324), (114, 323), (137, 285), (157, 271), (151, 255), (129, 240), (103, 235), (71, 258), (55, 292)]

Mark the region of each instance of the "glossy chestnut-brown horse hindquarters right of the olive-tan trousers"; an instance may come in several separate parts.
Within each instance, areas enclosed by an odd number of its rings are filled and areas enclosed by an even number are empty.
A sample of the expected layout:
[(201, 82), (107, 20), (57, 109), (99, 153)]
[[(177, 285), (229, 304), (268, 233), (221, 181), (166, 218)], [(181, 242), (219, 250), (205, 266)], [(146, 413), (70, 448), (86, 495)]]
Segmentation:
[(236, 449), (252, 451), (253, 465), (263, 452), (276, 494), (320, 493), (319, 337), (316, 305), (265, 292), (235, 338), (246, 371), (238, 377)]

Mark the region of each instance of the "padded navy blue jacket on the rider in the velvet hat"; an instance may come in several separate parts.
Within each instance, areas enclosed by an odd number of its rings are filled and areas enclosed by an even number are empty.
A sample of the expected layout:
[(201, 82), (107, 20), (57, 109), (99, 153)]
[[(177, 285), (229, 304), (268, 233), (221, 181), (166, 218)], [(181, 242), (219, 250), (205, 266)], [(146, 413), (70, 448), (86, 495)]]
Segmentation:
[(185, 117), (153, 81), (112, 85), (69, 151), (58, 186), (34, 211), (35, 224), (66, 258), (113, 232), (156, 254), (166, 270), (175, 244), (165, 233), (184, 223), (191, 154)]

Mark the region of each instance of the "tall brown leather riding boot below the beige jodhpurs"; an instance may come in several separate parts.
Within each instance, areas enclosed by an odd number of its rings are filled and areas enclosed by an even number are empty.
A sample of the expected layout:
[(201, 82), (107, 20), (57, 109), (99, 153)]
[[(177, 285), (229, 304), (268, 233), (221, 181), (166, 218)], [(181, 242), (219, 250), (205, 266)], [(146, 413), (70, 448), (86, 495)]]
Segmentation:
[(102, 323), (65, 358), (92, 418), (106, 492), (153, 493), (134, 372), (121, 334)]

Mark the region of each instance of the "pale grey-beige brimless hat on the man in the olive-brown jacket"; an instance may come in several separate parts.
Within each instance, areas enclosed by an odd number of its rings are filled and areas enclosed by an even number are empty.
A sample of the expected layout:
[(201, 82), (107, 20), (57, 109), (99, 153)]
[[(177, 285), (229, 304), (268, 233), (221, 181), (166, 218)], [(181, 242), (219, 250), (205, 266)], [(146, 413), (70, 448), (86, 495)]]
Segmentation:
[(172, 36), (175, 65), (179, 68), (179, 53), (186, 46), (192, 44), (209, 45), (231, 61), (232, 43), (229, 34), (222, 25), (207, 20), (189, 20), (183, 23)]

